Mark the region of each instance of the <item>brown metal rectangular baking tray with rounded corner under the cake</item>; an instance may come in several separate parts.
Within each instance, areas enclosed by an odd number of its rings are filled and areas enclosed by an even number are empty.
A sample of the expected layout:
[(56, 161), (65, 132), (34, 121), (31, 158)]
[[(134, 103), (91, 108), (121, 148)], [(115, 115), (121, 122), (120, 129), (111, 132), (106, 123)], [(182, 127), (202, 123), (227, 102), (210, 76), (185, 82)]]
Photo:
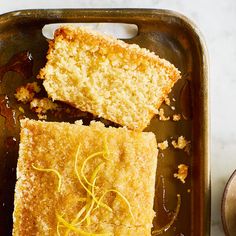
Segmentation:
[[(206, 47), (197, 27), (186, 17), (168, 10), (153, 9), (67, 9), (23, 10), (0, 16), (0, 66), (12, 56), (29, 51), (33, 58), (33, 76), (24, 79), (16, 72), (0, 69), (0, 94), (7, 95), (8, 106), (18, 114), (15, 89), (35, 80), (45, 64), (48, 42), (42, 27), (64, 22), (117, 22), (138, 26), (138, 35), (126, 40), (136, 43), (171, 61), (182, 73), (170, 97), (175, 110), (163, 105), (167, 115), (181, 113), (179, 122), (160, 121), (155, 117), (146, 131), (153, 131), (157, 141), (169, 141), (169, 148), (158, 157), (154, 229), (165, 224), (163, 209), (174, 212), (176, 194), (181, 195), (180, 212), (174, 224), (162, 235), (210, 234), (210, 166), (208, 130), (208, 64)], [(4, 76), (3, 76), (4, 75)], [(174, 109), (173, 108), (173, 109)], [(3, 108), (2, 108), (3, 109)], [(15, 110), (14, 110), (15, 109)], [(30, 112), (24, 114), (33, 117)], [(16, 117), (17, 118), (17, 117)], [(174, 149), (172, 139), (185, 136), (191, 140), (191, 151)], [(19, 142), (19, 122), (9, 127), (0, 116), (0, 235), (11, 235), (15, 185), (15, 167)], [(178, 164), (186, 164), (189, 174), (186, 183), (173, 177)], [(161, 186), (161, 187), (160, 187)], [(164, 202), (163, 202), (164, 199)], [(163, 208), (163, 205), (165, 207)]]

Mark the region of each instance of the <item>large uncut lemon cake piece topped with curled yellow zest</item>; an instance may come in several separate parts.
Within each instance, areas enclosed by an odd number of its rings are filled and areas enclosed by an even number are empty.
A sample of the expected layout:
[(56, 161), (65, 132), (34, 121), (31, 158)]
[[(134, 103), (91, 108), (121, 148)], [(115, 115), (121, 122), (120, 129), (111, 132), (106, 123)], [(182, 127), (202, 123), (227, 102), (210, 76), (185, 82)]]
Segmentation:
[(21, 120), (13, 235), (151, 235), (153, 133)]

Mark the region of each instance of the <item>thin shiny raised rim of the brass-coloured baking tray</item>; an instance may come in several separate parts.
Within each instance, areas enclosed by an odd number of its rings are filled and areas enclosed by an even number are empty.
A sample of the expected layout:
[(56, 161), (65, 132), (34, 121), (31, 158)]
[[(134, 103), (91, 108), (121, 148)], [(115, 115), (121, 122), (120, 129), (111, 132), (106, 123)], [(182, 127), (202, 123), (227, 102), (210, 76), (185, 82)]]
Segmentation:
[[(54, 8), (54, 9), (26, 9), (26, 10), (16, 10), (10, 11), (3, 14), (0, 14), (0, 25), (6, 23), (12, 18), (31, 18), (32, 13), (34, 13), (35, 17), (46, 17), (50, 20), (51, 17), (57, 16), (57, 13), (71, 13), (71, 12), (87, 12), (91, 13), (91, 16), (94, 16), (95, 13), (104, 13), (109, 16), (109, 13), (115, 14), (130, 14), (142, 13), (146, 15), (153, 16), (165, 16), (165, 17), (175, 17), (184, 24), (184, 27), (187, 27), (188, 30), (192, 31), (195, 34), (197, 39), (198, 46), (202, 51), (201, 56), (201, 66), (202, 66), (202, 83), (204, 87), (203, 94), (203, 105), (204, 112), (202, 114), (202, 118), (204, 120), (204, 206), (205, 206), (205, 215), (204, 217), (204, 226), (205, 226), (205, 235), (210, 235), (211, 231), (211, 172), (210, 172), (210, 113), (209, 113), (209, 54), (206, 47), (206, 43), (201, 33), (200, 29), (197, 25), (189, 19), (187, 16), (173, 10), (167, 9), (155, 9), (155, 8)], [(44, 14), (43, 14), (44, 13)], [(46, 14), (45, 14), (46, 13)], [(49, 13), (49, 14), (48, 14)], [(103, 15), (103, 17), (104, 17)], [(114, 17), (114, 16), (113, 16)], [(60, 21), (60, 16), (56, 19), (53, 19), (52, 22)], [(86, 18), (85, 18), (86, 19)], [(86, 21), (86, 20), (85, 20)], [(88, 22), (88, 21), (87, 21)], [(121, 21), (120, 21), (121, 22)], [(123, 23), (123, 22), (121, 22)], [(131, 23), (130, 20), (127, 20), (127, 23)], [(1, 33), (1, 32), (0, 32)]]

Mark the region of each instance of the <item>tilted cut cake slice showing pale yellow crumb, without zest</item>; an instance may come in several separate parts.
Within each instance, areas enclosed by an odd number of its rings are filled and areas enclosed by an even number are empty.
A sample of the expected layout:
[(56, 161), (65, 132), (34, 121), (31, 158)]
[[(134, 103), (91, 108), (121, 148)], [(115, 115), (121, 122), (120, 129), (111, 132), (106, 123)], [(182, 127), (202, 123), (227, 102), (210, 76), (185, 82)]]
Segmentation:
[(180, 72), (138, 45), (68, 26), (56, 30), (38, 78), (53, 100), (142, 131)]

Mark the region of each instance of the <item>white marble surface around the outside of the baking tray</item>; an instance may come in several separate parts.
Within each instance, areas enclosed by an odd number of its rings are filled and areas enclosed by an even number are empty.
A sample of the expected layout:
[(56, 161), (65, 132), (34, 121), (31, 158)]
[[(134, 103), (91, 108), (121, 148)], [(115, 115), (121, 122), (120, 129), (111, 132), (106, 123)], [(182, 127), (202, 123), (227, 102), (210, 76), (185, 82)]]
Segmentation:
[(212, 141), (211, 235), (224, 235), (220, 203), (236, 169), (236, 1), (235, 0), (0, 0), (0, 13), (27, 8), (166, 8), (190, 17), (205, 36), (210, 55)]

